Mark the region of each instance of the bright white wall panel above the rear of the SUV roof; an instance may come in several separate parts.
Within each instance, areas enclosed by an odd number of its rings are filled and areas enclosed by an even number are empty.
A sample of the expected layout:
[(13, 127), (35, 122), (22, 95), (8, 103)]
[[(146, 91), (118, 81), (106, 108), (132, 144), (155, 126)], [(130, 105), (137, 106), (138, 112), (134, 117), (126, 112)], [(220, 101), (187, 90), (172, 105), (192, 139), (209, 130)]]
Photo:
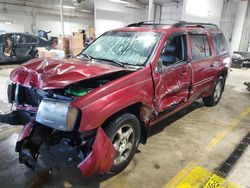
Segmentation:
[(220, 24), (223, 0), (184, 0), (182, 20)]

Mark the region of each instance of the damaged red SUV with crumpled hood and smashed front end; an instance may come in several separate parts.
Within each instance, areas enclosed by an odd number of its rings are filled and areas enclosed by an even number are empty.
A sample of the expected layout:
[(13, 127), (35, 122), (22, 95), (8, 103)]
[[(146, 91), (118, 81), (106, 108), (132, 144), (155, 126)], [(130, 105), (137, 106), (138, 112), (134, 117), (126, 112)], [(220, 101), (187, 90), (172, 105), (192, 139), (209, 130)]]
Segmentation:
[(64, 140), (77, 149), (84, 176), (119, 172), (151, 126), (199, 98), (216, 105), (228, 63), (216, 25), (135, 23), (104, 33), (76, 58), (34, 59), (13, 70), (14, 110), (1, 119), (26, 123), (16, 152), (32, 169), (42, 144)]

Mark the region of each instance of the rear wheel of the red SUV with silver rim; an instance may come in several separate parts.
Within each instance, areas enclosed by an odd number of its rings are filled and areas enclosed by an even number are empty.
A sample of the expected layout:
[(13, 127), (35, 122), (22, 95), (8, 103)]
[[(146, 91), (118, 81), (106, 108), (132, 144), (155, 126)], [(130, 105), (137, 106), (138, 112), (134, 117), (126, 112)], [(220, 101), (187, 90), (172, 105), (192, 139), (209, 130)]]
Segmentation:
[(218, 104), (218, 102), (221, 99), (222, 92), (224, 90), (224, 85), (225, 85), (224, 79), (223, 77), (220, 76), (215, 82), (215, 86), (211, 95), (202, 98), (205, 106), (210, 107)]

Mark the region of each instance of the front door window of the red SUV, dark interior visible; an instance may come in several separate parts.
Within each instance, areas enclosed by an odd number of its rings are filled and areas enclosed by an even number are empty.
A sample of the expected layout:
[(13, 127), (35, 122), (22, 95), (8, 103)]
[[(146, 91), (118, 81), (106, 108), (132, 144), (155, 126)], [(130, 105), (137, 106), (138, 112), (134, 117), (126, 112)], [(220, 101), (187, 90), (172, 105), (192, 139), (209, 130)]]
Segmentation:
[(186, 35), (178, 35), (167, 42), (161, 52), (163, 65), (168, 66), (176, 62), (185, 61), (187, 57)]

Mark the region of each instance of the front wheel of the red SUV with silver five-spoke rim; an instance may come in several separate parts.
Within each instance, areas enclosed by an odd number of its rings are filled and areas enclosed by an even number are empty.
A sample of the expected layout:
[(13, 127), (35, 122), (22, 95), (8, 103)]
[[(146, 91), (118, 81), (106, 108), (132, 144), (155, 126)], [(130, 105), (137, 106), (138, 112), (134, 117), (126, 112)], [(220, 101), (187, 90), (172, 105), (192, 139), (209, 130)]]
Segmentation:
[(140, 122), (135, 115), (125, 113), (107, 124), (104, 131), (117, 151), (110, 172), (118, 173), (129, 165), (135, 155), (141, 137)]

